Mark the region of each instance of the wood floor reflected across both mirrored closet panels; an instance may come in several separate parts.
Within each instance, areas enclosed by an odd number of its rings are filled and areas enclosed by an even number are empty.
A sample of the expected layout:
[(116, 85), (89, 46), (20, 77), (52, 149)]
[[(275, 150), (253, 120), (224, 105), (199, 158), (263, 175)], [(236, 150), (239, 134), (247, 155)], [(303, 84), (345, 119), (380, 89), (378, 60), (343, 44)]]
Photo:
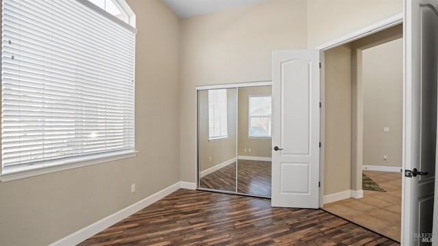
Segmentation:
[[(271, 162), (239, 160), (237, 169), (238, 193), (271, 196)], [(200, 186), (201, 188), (235, 191), (235, 162), (201, 177)]]

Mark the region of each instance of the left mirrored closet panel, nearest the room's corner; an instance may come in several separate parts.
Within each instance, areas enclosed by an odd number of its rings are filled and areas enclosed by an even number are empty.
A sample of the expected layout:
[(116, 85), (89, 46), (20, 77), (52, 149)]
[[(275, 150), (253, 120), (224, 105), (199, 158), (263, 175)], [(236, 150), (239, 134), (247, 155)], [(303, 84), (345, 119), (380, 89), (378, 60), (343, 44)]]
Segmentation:
[(235, 192), (237, 88), (198, 90), (199, 188)]

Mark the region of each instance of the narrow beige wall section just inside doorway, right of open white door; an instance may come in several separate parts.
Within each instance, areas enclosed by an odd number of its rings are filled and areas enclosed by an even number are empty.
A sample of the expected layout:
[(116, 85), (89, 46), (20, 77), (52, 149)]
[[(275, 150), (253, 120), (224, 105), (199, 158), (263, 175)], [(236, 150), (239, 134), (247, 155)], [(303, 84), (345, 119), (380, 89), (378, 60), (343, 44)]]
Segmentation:
[(325, 52), (324, 195), (350, 190), (351, 49)]

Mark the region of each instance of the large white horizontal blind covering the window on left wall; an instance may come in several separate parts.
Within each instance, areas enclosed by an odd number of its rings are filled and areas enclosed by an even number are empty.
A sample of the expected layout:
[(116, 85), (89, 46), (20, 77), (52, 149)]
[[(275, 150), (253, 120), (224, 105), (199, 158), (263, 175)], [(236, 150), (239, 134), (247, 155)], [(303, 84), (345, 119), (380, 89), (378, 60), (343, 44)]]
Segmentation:
[(133, 29), (79, 1), (2, 4), (2, 173), (133, 151)]

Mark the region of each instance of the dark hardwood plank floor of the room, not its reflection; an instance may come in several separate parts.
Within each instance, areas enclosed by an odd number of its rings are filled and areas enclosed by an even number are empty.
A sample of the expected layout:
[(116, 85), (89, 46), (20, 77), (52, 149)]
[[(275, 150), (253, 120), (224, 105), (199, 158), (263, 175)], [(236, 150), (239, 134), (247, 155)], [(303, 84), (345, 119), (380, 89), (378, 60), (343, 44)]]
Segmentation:
[(399, 245), (323, 210), (180, 189), (79, 245)]

